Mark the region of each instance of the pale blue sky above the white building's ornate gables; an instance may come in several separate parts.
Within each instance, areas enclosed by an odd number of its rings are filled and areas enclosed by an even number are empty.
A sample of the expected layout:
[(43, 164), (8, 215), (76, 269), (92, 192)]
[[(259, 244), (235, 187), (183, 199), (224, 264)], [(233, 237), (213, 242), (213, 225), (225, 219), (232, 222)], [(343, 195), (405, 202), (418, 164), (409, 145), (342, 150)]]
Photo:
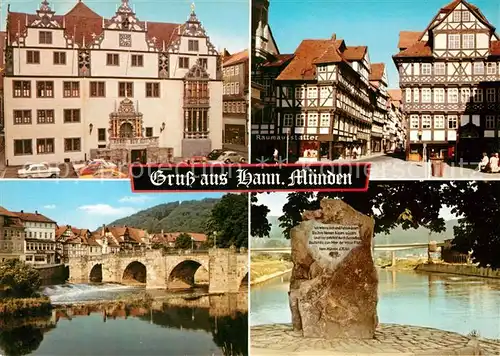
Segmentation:
[[(98, 14), (111, 18), (121, 0), (82, 0)], [(49, 0), (56, 14), (64, 14), (76, 5), (78, 0)], [(2, 28), (5, 28), (7, 4), (13, 12), (35, 13), (40, 1), (8, 0), (2, 4)], [(188, 0), (130, 0), (135, 6), (136, 16), (141, 21), (184, 23), (190, 14)], [(195, 11), (215, 48), (226, 48), (229, 53), (248, 48), (249, 2), (248, 0), (195, 0)]]

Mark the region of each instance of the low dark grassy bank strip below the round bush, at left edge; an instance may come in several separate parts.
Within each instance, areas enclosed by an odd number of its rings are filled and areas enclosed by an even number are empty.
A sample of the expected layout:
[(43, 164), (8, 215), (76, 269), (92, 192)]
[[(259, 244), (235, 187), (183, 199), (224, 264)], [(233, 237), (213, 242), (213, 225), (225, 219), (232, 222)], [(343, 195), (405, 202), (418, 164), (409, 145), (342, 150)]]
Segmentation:
[(48, 297), (0, 299), (2, 318), (47, 315), (53, 306)]

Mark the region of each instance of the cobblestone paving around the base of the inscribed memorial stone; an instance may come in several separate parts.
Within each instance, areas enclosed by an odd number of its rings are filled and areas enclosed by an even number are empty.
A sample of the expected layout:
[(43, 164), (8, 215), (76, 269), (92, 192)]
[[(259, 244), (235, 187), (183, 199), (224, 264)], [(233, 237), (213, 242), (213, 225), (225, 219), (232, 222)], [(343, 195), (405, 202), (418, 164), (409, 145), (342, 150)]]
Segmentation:
[(303, 338), (290, 324), (251, 328), (251, 354), (263, 355), (498, 355), (500, 341), (409, 325), (380, 324), (370, 340)]

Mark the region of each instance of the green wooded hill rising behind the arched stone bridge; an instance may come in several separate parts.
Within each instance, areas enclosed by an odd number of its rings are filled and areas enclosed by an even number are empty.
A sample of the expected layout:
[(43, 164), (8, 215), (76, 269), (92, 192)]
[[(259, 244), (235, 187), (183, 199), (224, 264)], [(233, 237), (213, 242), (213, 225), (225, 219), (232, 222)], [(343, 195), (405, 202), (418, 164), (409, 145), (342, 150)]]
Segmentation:
[(147, 230), (149, 233), (162, 230), (204, 233), (212, 208), (219, 200), (207, 198), (160, 204), (115, 220), (108, 225), (130, 226)]

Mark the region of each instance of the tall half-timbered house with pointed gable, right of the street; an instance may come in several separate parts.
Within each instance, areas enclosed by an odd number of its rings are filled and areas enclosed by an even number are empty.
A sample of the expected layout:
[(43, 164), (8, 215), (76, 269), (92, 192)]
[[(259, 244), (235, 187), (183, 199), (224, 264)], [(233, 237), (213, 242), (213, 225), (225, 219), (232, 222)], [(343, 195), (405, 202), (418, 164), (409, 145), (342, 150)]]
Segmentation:
[(478, 161), (500, 149), (500, 41), (478, 7), (454, 0), (394, 57), (409, 118), (407, 158)]

